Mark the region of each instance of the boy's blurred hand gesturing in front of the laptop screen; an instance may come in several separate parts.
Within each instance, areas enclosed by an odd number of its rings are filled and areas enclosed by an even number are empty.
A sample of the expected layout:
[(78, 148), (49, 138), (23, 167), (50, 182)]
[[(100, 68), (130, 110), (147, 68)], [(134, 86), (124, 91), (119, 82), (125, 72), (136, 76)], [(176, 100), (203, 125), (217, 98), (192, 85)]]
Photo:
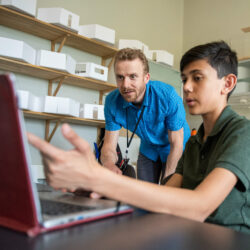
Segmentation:
[(50, 186), (70, 192), (79, 188), (90, 190), (91, 181), (98, 176), (102, 166), (96, 161), (89, 144), (68, 124), (62, 125), (62, 134), (74, 149), (64, 151), (31, 133), (27, 133), (27, 136), (29, 142), (42, 154), (45, 175)]

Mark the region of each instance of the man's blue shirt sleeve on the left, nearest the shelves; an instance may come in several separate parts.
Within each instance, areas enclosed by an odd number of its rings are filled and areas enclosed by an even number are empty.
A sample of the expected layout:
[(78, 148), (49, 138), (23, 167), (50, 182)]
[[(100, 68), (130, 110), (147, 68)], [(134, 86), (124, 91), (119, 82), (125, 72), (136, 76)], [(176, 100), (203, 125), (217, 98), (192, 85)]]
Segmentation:
[(121, 125), (115, 120), (116, 105), (113, 101), (112, 95), (108, 95), (105, 99), (104, 115), (105, 115), (105, 129), (108, 131), (116, 131), (121, 129)]

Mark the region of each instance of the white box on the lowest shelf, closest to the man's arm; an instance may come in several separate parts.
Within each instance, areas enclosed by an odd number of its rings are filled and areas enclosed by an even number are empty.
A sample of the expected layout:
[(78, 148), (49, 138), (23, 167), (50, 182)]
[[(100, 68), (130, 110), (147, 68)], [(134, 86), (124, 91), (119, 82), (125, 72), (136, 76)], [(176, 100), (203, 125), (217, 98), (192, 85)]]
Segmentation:
[(81, 118), (105, 120), (104, 118), (104, 106), (97, 104), (80, 104)]

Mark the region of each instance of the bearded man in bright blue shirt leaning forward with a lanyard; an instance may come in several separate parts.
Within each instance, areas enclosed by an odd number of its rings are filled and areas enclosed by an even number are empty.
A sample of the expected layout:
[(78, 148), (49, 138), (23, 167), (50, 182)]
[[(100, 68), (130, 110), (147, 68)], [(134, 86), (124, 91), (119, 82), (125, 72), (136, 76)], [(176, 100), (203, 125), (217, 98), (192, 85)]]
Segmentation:
[(119, 130), (124, 127), (141, 139), (138, 178), (159, 183), (160, 177), (163, 180), (174, 173), (190, 136), (182, 99), (172, 86), (149, 80), (148, 61), (141, 50), (120, 50), (115, 57), (114, 71), (118, 89), (105, 101), (101, 162), (121, 174), (115, 165), (116, 145)]

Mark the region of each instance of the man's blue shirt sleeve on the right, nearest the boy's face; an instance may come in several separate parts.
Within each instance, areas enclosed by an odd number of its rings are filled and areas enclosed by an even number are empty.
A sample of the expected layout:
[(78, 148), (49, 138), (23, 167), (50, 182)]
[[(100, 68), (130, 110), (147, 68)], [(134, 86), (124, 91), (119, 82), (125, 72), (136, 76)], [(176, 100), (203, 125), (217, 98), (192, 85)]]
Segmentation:
[(173, 89), (168, 97), (167, 117), (165, 120), (168, 130), (177, 131), (183, 128), (186, 120), (186, 113), (181, 97)]

